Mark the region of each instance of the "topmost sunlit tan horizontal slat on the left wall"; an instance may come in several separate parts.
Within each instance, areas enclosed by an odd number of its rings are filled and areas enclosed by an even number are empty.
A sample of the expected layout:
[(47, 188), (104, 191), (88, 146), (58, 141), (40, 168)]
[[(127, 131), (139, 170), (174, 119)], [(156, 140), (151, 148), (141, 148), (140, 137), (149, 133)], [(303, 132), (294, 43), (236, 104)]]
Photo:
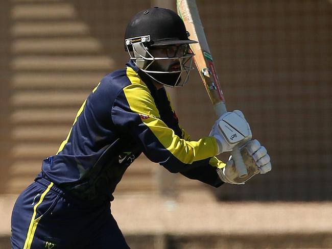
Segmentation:
[(14, 21), (40, 19), (66, 20), (77, 17), (77, 12), (74, 6), (69, 3), (48, 1), (43, 3), (15, 3), (11, 15)]

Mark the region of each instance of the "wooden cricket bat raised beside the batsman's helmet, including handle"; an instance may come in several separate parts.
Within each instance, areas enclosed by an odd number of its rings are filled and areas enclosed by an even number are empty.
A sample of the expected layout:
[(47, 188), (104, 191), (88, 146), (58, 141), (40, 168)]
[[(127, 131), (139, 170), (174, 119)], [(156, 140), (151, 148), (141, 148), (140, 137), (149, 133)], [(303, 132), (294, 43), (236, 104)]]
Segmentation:
[[(192, 51), (195, 53), (194, 61), (212, 105), (214, 106), (215, 113), (220, 117), (227, 112), (225, 98), (220, 87), (210, 48), (205, 37), (196, 1), (177, 0), (176, 5), (178, 14), (182, 18), (186, 30), (190, 34), (190, 39), (198, 41), (198, 43), (190, 44)], [(248, 171), (243, 162), (239, 147), (235, 146), (231, 154), (239, 177), (246, 177)]]

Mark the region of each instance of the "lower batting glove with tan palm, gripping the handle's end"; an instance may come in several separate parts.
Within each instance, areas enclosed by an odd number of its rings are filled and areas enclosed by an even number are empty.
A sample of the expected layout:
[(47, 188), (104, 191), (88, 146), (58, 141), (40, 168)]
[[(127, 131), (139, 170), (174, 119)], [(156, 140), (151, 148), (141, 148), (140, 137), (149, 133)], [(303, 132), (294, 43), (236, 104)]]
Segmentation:
[(224, 168), (217, 169), (220, 179), (225, 183), (230, 184), (244, 184), (254, 175), (265, 174), (272, 169), (270, 156), (266, 148), (255, 139), (247, 142), (241, 147), (241, 155), (247, 167), (248, 176), (240, 178), (234, 161), (229, 158)]

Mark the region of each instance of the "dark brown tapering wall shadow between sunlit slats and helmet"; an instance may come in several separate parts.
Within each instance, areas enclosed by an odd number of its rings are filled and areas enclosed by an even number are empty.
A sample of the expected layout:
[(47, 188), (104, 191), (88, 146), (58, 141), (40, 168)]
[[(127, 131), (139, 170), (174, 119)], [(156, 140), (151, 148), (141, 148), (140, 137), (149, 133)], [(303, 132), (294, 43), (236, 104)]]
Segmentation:
[(80, 18), (88, 24), (92, 35), (103, 44), (104, 54), (115, 61), (115, 69), (123, 68), (129, 60), (124, 50), (127, 23), (139, 11), (149, 8), (150, 0), (98, 2), (70, 0)]

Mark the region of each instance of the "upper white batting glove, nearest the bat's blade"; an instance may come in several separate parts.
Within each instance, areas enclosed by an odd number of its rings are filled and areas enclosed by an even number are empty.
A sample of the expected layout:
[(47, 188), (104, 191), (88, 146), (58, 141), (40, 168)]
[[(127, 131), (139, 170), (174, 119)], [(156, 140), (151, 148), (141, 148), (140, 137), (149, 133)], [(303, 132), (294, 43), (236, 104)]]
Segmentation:
[(219, 146), (218, 154), (229, 152), (238, 143), (251, 139), (252, 134), (247, 120), (241, 111), (224, 113), (217, 119), (209, 134), (215, 137)]

